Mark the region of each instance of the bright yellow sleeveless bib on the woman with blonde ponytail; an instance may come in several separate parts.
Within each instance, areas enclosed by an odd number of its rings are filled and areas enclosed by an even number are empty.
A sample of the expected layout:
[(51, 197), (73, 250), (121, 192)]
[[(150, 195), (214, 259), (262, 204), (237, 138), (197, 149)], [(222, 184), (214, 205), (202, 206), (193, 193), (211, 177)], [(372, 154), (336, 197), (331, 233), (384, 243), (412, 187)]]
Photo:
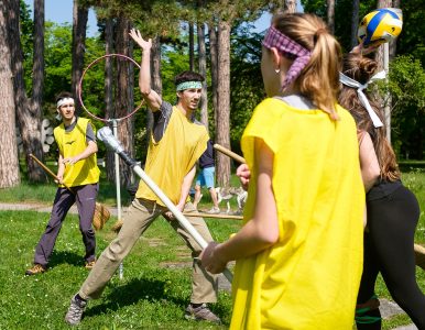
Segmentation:
[(241, 145), (251, 169), (244, 221), (257, 195), (254, 138), (274, 153), (273, 191), (280, 238), (238, 260), (231, 329), (351, 329), (362, 271), (364, 189), (356, 124), (320, 110), (265, 99)]

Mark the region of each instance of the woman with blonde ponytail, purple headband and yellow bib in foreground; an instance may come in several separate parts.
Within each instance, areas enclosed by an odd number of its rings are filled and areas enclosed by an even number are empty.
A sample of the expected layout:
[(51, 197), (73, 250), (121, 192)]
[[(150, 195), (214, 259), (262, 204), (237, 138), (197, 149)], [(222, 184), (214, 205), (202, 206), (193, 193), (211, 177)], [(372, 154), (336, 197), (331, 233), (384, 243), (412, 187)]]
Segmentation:
[(364, 189), (356, 123), (336, 101), (340, 46), (304, 13), (276, 15), (262, 44), (269, 98), (241, 140), (243, 227), (209, 243), (203, 265), (236, 260), (230, 329), (350, 330)]

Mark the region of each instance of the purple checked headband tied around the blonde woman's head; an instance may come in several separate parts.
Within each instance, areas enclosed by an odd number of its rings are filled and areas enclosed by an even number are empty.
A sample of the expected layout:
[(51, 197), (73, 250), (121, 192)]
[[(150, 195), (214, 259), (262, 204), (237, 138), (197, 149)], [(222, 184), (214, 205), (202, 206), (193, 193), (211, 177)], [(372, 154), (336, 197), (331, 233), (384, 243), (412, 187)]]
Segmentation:
[(286, 73), (282, 90), (295, 81), (295, 79), (301, 75), (301, 72), (306, 67), (312, 56), (312, 53), (308, 50), (304, 48), (291, 37), (284, 35), (274, 26), (270, 26), (262, 44), (269, 50), (275, 47), (284, 56), (294, 59)]

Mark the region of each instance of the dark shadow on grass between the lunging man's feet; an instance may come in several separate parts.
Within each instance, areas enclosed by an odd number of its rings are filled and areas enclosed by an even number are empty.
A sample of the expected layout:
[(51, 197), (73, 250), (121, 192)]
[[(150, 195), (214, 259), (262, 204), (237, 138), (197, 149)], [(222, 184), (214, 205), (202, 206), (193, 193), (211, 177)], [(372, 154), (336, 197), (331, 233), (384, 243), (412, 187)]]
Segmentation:
[(130, 306), (137, 304), (139, 300), (144, 299), (148, 301), (157, 301), (165, 299), (178, 306), (184, 306), (184, 299), (179, 299), (167, 294), (164, 294), (165, 282), (146, 278), (134, 278), (122, 286), (117, 286), (112, 292), (103, 298), (103, 304), (89, 308), (85, 316), (96, 316), (100, 314), (107, 314), (117, 311), (123, 306)]

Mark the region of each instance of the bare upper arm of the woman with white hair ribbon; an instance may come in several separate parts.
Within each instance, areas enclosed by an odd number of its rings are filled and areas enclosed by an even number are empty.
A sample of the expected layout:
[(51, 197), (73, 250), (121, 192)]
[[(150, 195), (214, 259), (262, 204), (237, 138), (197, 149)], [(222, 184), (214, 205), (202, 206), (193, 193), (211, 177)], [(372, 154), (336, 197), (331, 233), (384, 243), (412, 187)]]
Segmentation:
[(377, 153), (369, 133), (362, 132), (359, 139), (360, 168), (364, 190), (369, 191), (381, 175)]

